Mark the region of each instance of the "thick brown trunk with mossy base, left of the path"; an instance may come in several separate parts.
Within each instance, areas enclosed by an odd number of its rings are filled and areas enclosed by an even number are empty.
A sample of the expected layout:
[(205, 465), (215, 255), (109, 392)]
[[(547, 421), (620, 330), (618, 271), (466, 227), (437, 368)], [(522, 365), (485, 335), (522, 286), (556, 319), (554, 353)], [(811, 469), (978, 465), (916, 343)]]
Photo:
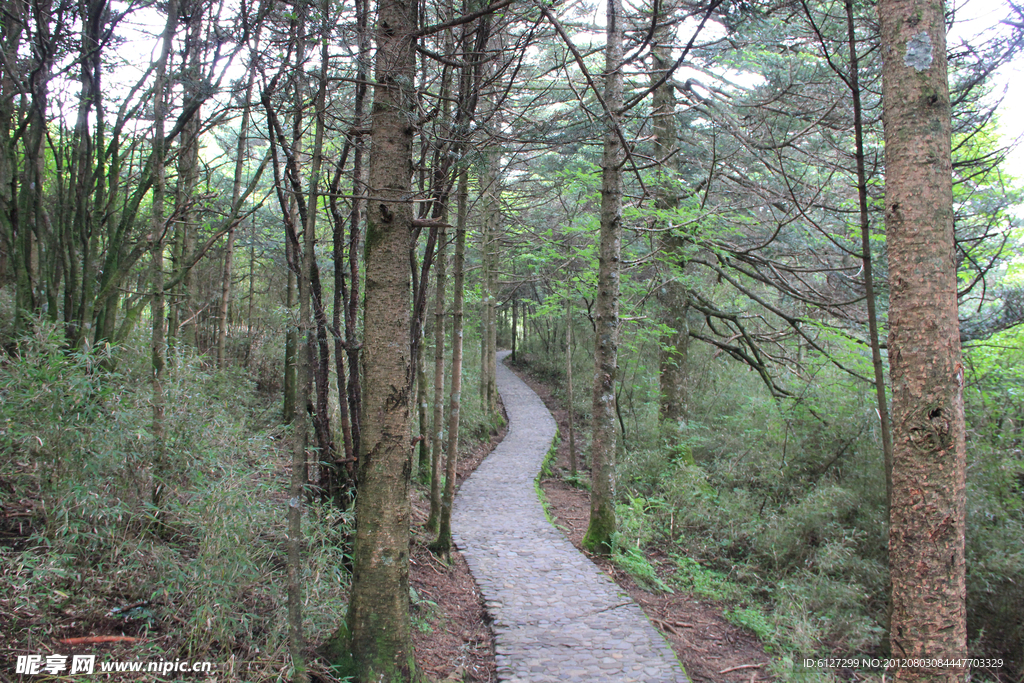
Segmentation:
[(378, 6), (366, 239), (366, 396), (348, 651), (358, 683), (411, 681), (409, 613), (410, 237), (417, 3)]

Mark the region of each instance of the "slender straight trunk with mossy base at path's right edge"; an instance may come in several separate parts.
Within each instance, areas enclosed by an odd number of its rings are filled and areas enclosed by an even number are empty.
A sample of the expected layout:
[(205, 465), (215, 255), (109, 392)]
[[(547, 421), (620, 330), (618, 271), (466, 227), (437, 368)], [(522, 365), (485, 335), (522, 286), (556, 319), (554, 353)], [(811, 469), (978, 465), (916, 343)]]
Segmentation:
[(624, 150), (615, 113), (623, 104), (623, 7), (608, 0), (605, 48), (604, 156), (601, 160), (601, 238), (598, 256), (597, 321), (594, 340), (590, 524), (583, 545), (592, 552), (611, 550), (615, 530), (615, 374), (618, 353), (618, 279), (623, 231), (622, 163)]

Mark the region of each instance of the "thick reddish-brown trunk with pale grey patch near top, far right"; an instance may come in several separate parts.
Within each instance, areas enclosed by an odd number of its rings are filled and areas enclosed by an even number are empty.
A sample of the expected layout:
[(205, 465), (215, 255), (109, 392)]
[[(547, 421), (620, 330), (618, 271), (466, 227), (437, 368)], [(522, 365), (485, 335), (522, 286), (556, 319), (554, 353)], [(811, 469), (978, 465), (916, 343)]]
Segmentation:
[[(967, 656), (964, 367), (941, 2), (882, 0), (889, 357), (893, 387), (892, 655)], [(897, 681), (963, 681), (901, 667)]]

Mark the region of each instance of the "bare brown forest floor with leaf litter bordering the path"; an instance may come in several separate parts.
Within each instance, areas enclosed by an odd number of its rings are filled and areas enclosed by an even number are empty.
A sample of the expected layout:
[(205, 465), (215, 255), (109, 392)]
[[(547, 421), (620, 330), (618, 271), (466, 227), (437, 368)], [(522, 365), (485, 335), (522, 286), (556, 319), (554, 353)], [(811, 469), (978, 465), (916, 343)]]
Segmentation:
[[(517, 372), (545, 401), (559, 424), (560, 432), (567, 434), (566, 413), (553, 400), (550, 389), (521, 371)], [(493, 434), (489, 441), (476, 441), (468, 447), (468, 452), (461, 454), (458, 470), (460, 484), (504, 435), (503, 428), (500, 433)], [(470, 439), (467, 438), (467, 445), (469, 443)], [(287, 470), (287, 466), (283, 464), (282, 476), (287, 474), (284, 470)], [(568, 446), (565, 438), (559, 443), (554, 471), (568, 471)], [(579, 548), (589, 515), (589, 493), (569, 485), (560, 476), (544, 479), (542, 486), (552, 517)], [(427, 550), (427, 545), (433, 540), (433, 535), (424, 528), (429, 512), (429, 493), (421, 485), (414, 486), (411, 498), (411, 585), (419, 598), (413, 609), (418, 668), (431, 680), (438, 682), (494, 683), (498, 680), (494, 636), (476, 583), (460, 553), (454, 551), (451, 562), (444, 563)], [(22, 538), (24, 535), (23, 529), (17, 536)], [(14, 547), (17, 547), (16, 544)], [(598, 557), (592, 559), (641, 605), (651, 622), (666, 634), (691, 680), (714, 683), (758, 683), (769, 680), (769, 657), (763, 647), (752, 634), (726, 622), (720, 605), (694, 600), (680, 593), (656, 594), (644, 591), (609, 561)], [(656, 565), (657, 559), (651, 558), (652, 564)], [(2, 608), (5, 602), (0, 600), (0, 632), (3, 633), (0, 636), (0, 650), (8, 654), (36, 651), (39, 643), (24, 642), (15, 635), (20, 633), (24, 636), (24, 629), (28, 624), (13, 613), (6, 613), (7, 610)], [(47, 617), (40, 614), (37, 620), (30, 622), (39, 620), (46, 621)], [(57, 628), (61, 636), (87, 636), (95, 633), (139, 635), (126, 631), (121, 622), (106, 621), (111, 623), (76, 618), (75, 624), (61, 622)], [(159, 644), (166, 651), (173, 650), (173, 642), (177, 640), (173, 631), (173, 628), (170, 629), (161, 643), (154, 646)], [(132, 643), (118, 643), (111, 649), (111, 654), (121, 652), (126, 659), (138, 655)], [(311, 678), (314, 681), (334, 680), (322, 664), (313, 666)], [(0, 667), (0, 680), (6, 680), (7, 673), (6, 667)]]

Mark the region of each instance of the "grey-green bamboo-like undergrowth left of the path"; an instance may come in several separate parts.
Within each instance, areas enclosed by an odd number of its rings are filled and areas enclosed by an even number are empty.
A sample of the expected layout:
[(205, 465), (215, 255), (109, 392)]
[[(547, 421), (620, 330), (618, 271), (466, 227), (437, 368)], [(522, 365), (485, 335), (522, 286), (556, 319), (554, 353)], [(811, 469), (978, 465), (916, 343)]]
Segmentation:
[[(5, 646), (117, 629), (145, 637), (133, 658), (229, 659), (246, 680), (279, 678), (287, 432), (253, 422), (267, 411), (244, 373), (178, 354), (156, 442), (147, 361), (131, 348), (69, 350), (45, 326), (3, 361), (0, 488), (7, 512), (28, 521), (0, 529)], [(350, 522), (306, 507), (310, 641), (344, 613)]]

